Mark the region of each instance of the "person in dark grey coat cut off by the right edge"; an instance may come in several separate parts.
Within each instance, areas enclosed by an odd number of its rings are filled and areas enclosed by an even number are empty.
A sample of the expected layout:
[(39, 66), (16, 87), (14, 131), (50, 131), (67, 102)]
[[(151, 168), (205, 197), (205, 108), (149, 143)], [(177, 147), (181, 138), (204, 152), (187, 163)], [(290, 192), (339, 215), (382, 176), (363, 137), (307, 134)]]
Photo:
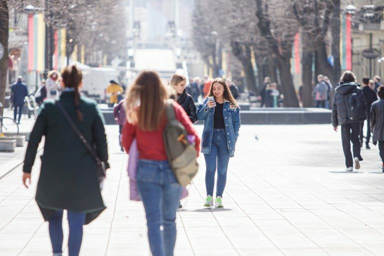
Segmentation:
[(384, 85), (377, 87), (378, 100), (370, 108), (373, 144), (378, 141), (379, 155), (382, 161), (381, 170), (384, 172)]

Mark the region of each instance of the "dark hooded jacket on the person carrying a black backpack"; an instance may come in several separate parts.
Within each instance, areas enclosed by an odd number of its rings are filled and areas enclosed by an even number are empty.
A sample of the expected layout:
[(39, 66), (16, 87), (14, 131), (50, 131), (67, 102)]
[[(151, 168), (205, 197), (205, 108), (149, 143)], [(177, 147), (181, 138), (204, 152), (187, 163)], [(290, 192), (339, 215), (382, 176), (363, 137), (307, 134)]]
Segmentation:
[(332, 104), (333, 127), (345, 123), (359, 122), (360, 120), (349, 120), (347, 118), (346, 102), (348, 101), (350, 95), (356, 93), (364, 107), (364, 110), (366, 111), (366, 103), (364, 99), (364, 94), (362, 94), (362, 91), (360, 89), (360, 84), (356, 82), (341, 81), (334, 89), (334, 91), (336, 93), (334, 93)]

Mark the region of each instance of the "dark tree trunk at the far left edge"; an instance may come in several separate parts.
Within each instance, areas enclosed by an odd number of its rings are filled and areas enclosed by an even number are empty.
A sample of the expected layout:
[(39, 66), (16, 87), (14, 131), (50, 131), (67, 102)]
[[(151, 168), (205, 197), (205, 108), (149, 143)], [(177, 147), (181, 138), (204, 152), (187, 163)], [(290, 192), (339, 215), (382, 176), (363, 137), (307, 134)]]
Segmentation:
[[(4, 55), (0, 59), (0, 102), (4, 103), (6, 90), (6, 73), (8, 70), (8, 26), (9, 14), (7, 0), (0, 0), (0, 43), (4, 47)], [(4, 106), (0, 108), (2, 115)]]

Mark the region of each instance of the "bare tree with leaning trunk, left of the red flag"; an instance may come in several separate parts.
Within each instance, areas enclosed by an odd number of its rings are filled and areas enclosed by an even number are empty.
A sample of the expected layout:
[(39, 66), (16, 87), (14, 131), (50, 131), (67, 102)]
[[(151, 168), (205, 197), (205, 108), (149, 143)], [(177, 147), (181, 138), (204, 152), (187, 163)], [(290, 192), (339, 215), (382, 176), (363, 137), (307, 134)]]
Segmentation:
[(261, 35), (277, 59), (277, 68), (284, 95), (284, 106), (298, 107), (298, 100), (290, 73), (290, 58), (297, 25), (290, 10), (282, 1), (271, 2), (272, 8), (262, 0), (256, 0), (256, 16)]

